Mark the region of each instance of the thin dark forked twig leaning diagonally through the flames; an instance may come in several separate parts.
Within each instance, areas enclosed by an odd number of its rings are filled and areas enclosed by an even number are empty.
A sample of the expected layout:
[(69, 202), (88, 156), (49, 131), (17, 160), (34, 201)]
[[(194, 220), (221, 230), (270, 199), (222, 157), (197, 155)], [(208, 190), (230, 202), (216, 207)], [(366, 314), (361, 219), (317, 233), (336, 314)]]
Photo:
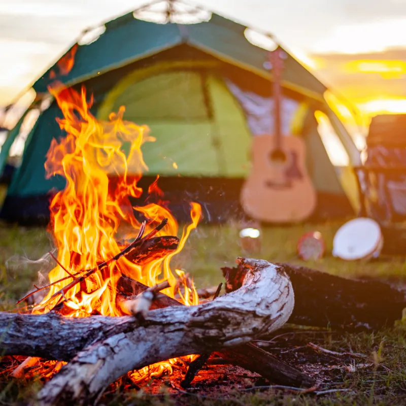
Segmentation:
[[(77, 285), (80, 282), (83, 282), (86, 278), (88, 278), (90, 275), (94, 274), (97, 270), (101, 270), (105, 267), (107, 267), (108, 265), (110, 265), (112, 262), (117, 261), (119, 258), (121, 258), (124, 255), (127, 255), (129, 252), (131, 252), (132, 250), (134, 250), (135, 248), (137, 248), (138, 246), (140, 246), (144, 241), (150, 239), (152, 236), (154, 236), (158, 231), (160, 231), (168, 222), (167, 218), (164, 218), (161, 223), (159, 225), (157, 225), (149, 234), (147, 234), (145, 237), (142, 238), (142, 234), (144, 233), (145, 230), (145, 222), (141, 225), (139, 234), (136, 238), (136, 240), (134, 240), (130, 245), (128, 245), (126, 248), (124, 248), (121, 252), (119, 252), (118, 254), (116, 254), (114, 257), (110, 258), (107, 261), (101, 262), (99, 265), (97, 265), (96, 267), (89, 269), (84, 275), (74, 279), (72, 282), (70, 282), (69, 284), (67, 284), (66, 286), (64, 286), (63, 288), (59, 289), (57, 292), (55, 292), (45, 303), (43, 303), (44, 305), (47, 304), (50, 300), (52, 300), (54, 297), (61, 295), (63, 296), (63, 294), (65, 294), (67, 291), (69, 291), (70, 289), (72, 289), (75, 285)], [(81, 273), (83, 273), (84, 270), (80, 270), (78, 273), (74, 274), (74, 276), (76, 277), (77, 275), (80, 275)], [(37, 288), (35, 291), (32, 291), (30, 293), (28, 293), (27, 295), (25, 295), (23, 298), (21, 298), (20, 300), (17, 301), (17, 304), (22, 302), (23, 300), (25, 300), (26, 298), (28, 298), (29, 296), (39, 292), (40, 290), (49, 288), (50, 286), (56, 285), (59, 282), (62, 282), (66, 279), (69, 279), (71, 277), (65, 277), (65, 278), (61, 278), (58, 281), (52, 282), (46, 286), (43, 286), (41, 288)]]

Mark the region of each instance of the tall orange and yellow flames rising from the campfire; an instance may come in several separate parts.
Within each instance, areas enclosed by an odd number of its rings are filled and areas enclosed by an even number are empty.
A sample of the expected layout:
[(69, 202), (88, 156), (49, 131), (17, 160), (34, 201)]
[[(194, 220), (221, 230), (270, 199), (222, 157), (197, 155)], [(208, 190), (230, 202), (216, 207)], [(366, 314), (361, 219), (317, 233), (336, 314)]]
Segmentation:
[[(197, 304), (193, 283), (180, 270), (176, 270), (175, 276), (170, 267), (171, 258), (182, 250), (190, 231), (200, 219), (201, 210), (196, 203), (191, 204), (192, 222), (183, 230), (175, 252), (143, 266), (121, 257), (103, 271), (97, 269), (92, 276), (67, 291), (64, 297), (52, 297), (73, 281), (66, 270), (71, 274), (83, 274), (83, 271), (97, 267), (124, 248), (123, 243), (118, 243), (120, 235), (125, 235), (128, 240), (138, 234), (141, 224), (134, 216), (129, 196), (139, 197), (142, 193), (137, 182), (148, 168), (143, 161), (141, 147), (145, 142), (154, 141), (146, 125), (123, 120), (124, 107), (117, 114), (112, 113), (110, 121), (97, 121), (90, 113), (92, 99), (86, 100), (84, 88), (81, 94), (61, 86), (56, 89), (53, 86), (50, 91), (63, 113), (64, 118), (59, 120), (59, 125), (66, 132), (66, 137), (52, 140), (45, 168), (48, 178), (62, 176), (66, 179), (66, 186), (55, 194), (50, 203), (49, 231), (62, 266), (57, 265), (51, 270), (49, 280), (51, 283), (64, 280), (50, 288), (33, 313), (48, 312), (64, 301), (67, 309), (64, 314), (67, 312), (68, 317), (122, 315), (115, 304), (116, 283), (122, 274), (148, 286), (167, 280), (171, 287), (163, 293), (171, 297), (178, 293), (187, 306)], [(148, 192), (161, 199), (163, 193), (157, 181), (158, 178)], [(168, 224), (157, 235), (178, 234), (178, 224), (165, 205), (166, 202), (159, 200), (158, 204), (136, 208), (147, 219), (145, 233), (167, 218)], [(176, 360), (159, 363), (134, 374), (139, 379), (145, 374), (172, 371), (174, 363)]]

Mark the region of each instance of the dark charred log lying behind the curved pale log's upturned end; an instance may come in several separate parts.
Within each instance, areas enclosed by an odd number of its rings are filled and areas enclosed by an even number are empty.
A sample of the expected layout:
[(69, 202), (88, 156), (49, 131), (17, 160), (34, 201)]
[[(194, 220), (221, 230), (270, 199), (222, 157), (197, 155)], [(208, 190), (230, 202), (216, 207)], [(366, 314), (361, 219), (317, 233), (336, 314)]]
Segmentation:
[[(276, 264), (285, 270), (295, 292), (288, 323), (346, 330), (378, 330), (401, 319), (406, 292), (381, 281), (354, 280), (305, 266)], [(224, 267), (226, 292), (241, 286), (244, 267)]]

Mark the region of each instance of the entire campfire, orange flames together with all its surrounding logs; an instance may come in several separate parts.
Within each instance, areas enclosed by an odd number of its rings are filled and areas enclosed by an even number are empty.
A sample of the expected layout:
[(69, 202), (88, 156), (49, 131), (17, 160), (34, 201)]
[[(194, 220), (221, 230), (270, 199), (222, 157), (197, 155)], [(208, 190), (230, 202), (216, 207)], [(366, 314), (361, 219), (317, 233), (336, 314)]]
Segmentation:
[[(19, 300), (34, 300), (30, 312), (0, 314), (3, 354), (26, 357), (13, 376), (39, 366), (47, 378), (38, 394), (42, 406), (94, 404), (123, 376), (142, 385), (177, 368), (180, 386), (188, 388), (210, 358), (314, 391), (313, 377), (258, 341), (288, 320), (379, 328), (398, 317), (404, 294), (387, 285), (350, 283), (262, 259), (237, 258), (238, 266), (222, 268), (225, 293), (220, 284), (199, 294), (188, 273), (171, 268), (198, 225), (199, 204), (190, 202), (190, 222), (178, 238), (158, 177), (144, 206), (130, 202), (143, 194), (138, 183), (148, 166), (142, 145), (154, 141), (149, 128), (124, 120), (124, 107), (107, 122), (97, 120), (84, 88), (78, 93), (54, 85), (50, 91), (66, 132), (53, 140), (45, 163), (48, 177), (66, 181), (50, 202), (55, 267), (47, 284), (34, 285)], [(381, 301), (371, 300), (378, 296)]]

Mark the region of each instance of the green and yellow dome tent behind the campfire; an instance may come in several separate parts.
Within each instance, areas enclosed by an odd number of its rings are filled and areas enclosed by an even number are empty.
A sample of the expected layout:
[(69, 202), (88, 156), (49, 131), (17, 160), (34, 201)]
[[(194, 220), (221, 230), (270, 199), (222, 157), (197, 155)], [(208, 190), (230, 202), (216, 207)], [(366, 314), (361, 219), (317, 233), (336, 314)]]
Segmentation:
[[(180, 219), (189, 210), (184, 202), (191, 199), (202, 204), (207, 221), (241, 215), (239, 193), (250, 170), (251, 141), (269, 133), (273, 125), (268, 51), (249, 41), (250, 28), (214, 13), (199, 21), (177, 22), (178, 4), (169, 3), (164, 23), (141, 19), (136, 11), (87, 31), (84, 37), (93, 33), (95, 38), (79, 40), (33, 84), (36, 99), (9, 132), (0, 153), (1, 171), (24, 120), (35, 111), (38, 119), (24, 136), (23, 154), (0, 214), (3, 219), (46, 222), (50, 191), (64, 187), (63, 179), (45, 179), (44, 169), (51, 140), (63, 137), (55, 120), (61, 112), (47, 90), (55, 79), (77, 90), (84, 85), (94, 96), (92, 113), (97, 118), (107, 119), (124, 105), (125, 119), (151, 128), (156, 142), (143, 146), (149, 172), (142, 186), (159, 175), (159, 185)], [(195, 15), (190, 10), (186, 14)], [(350, 163), (359, 164), (359, 152), (323, 98), (326, 87), (288, 52), (285, 55), (283, 132), (306, 141), (307, 165), (318, 196), (315, 216), (352, 214), (315, 112), (328, 118)], [(61, 69), (68, 57), (74, 57), (70, 72)]]

